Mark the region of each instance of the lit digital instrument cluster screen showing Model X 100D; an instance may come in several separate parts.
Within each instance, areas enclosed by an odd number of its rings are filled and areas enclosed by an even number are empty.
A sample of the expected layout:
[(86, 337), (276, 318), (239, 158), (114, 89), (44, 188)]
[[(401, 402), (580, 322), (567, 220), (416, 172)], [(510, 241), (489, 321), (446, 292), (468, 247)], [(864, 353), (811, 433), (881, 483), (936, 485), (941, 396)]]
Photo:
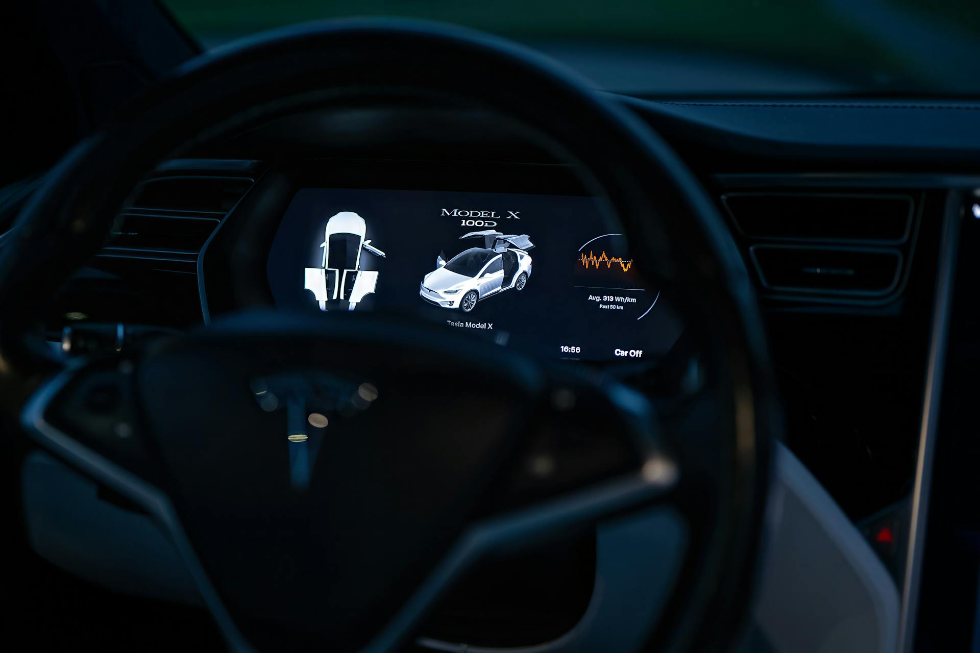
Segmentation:
[(267, 266), (278, 307), (410, 312), (582, 360), (669, 350), (681, 325), (580, 196), (304, 188)]

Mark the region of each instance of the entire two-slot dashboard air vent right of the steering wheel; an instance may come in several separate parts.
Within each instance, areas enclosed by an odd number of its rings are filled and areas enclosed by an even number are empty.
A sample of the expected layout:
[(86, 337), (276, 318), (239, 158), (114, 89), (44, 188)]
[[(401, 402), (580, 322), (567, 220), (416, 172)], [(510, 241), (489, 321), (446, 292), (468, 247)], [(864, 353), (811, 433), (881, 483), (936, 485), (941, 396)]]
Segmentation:
[(721, 202), (765, 297), (880, 303), (901, 293), (916, 198), (780, 189), (728, 192)]

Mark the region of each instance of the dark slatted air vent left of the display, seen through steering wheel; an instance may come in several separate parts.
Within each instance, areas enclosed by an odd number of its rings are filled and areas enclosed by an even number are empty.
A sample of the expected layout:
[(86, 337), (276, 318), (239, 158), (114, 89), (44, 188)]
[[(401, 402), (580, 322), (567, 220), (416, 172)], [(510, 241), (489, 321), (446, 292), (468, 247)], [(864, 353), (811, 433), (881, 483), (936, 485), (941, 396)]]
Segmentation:
[(109, 243), (63, 290), (69, 319), (183, 327), (202, 319), (197, 257), (253, 184), (256, 162), (180, 160), (137, 189)]

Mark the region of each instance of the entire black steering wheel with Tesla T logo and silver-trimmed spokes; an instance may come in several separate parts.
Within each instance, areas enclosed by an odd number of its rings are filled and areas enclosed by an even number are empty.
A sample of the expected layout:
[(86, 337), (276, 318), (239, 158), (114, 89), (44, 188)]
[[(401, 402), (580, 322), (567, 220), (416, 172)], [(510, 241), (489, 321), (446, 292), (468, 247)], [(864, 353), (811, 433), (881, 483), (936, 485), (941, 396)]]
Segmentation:
[[(354, 313), (242, 311), (136, 351), (51, 353), (39, 298), (156, 163), (298, 112), (420, 98), (503, 117), (574, 163), (688, 325), (689, 392)], [(596, 529), (631, 534), (632, 582), (598, 578), (579, 623), (531, 650), (717, 650), (741, 631), (779, 426), (749, 277), (662, 139), (521, 47), (323, 23), (202, 56), (51, 171), (0, 250), (0, 306), (4, 410), (160, 525), (235, 650), (457, 650), (425, 620), (475, 565)], [(288, 409), (263, 410), (267, 394)], [(290, 420), (324, 404), (341, 414), (328, 450), (285, 478)]]

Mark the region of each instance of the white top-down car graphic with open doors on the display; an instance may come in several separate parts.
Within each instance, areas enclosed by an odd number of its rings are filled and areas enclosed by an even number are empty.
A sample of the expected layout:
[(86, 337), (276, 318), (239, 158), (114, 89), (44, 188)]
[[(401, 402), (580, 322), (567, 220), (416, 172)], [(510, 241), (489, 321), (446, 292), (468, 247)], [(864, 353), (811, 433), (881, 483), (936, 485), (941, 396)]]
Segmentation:
[(345, 300), (347, 309), (354, 310), (366, 295), (374, 292), (377, 272), (361, 269), (361, 253), (384, 257), (384, 252), (365, 240), (365, 218), (343, 210), (326, 222), (323, 234), (323, 262), (320, 267), (306, 268), (306, 288), (312, 291), (320, 310), (326, 303)]

